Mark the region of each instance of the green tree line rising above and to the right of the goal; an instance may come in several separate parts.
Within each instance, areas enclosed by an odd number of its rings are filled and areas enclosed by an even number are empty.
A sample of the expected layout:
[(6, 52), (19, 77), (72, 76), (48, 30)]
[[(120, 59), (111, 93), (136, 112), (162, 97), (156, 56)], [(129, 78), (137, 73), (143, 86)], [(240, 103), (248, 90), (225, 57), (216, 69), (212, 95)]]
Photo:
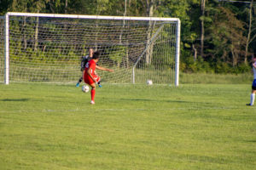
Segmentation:
[(0, 1), (0, 15), (9, 11), (179, 18), (180, 68), (186, 72), (247, 72), (256, 54), (255, 0)]

